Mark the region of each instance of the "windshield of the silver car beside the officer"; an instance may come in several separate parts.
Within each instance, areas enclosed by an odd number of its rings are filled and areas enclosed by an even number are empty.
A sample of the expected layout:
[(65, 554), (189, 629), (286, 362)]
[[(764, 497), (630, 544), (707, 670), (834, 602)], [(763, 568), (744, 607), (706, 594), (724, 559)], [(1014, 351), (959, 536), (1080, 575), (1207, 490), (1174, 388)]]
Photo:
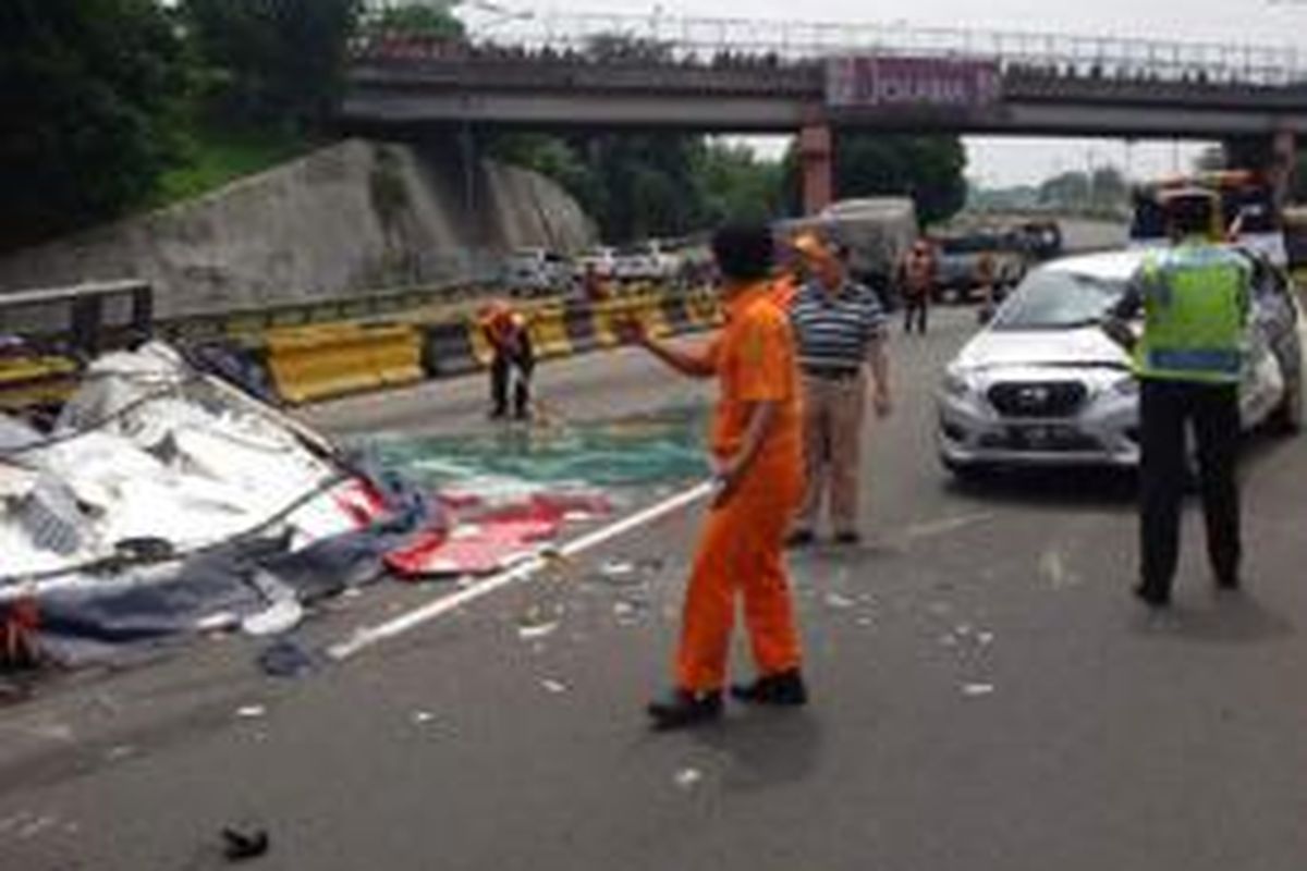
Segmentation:
[(1076, 272), (1036, 269), (995, 316), (995, 329), (1069, 329), (1103, 317), (1125, 282)]

